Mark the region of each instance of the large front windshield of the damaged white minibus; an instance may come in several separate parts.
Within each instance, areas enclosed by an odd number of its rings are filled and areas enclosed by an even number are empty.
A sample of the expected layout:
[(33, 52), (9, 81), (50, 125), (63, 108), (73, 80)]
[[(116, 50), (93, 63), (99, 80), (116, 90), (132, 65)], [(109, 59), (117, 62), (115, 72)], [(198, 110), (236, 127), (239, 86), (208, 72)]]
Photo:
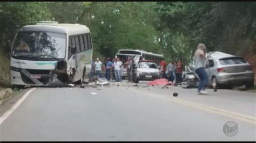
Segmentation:
[(23, 59), (64, 59), (66, 35), (52, 32), (18, 32), (12, 57)]

